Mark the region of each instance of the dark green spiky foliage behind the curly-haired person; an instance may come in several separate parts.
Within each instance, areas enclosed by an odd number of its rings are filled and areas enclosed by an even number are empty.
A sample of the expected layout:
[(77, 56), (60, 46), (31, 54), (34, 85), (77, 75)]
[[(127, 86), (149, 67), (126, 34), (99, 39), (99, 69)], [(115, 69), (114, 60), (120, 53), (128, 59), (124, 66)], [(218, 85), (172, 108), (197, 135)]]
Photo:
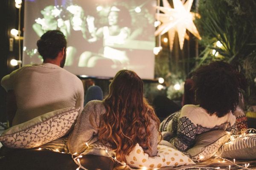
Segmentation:
[[(200, 44), (204, 47), (197, 66), (214, 60), (224, 60), (236, 66), (250, 85), (247, 101), (252, 101), (250, 98), (256, 96), (252, 94), (256, 89), (255, 9), (255, 0), (200, 0), (201, 19), (196, 21), (202, 37)], [(223, 46), (217, 47), (217, 41)], [(218, 56), (212, 54), (213, 49)]]

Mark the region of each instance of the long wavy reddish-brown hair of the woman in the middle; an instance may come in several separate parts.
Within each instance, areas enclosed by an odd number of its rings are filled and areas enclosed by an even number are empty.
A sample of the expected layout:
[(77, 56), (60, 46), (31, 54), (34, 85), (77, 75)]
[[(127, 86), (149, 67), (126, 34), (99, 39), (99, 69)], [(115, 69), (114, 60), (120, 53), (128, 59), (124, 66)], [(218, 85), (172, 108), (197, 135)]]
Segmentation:
[(156, 122), (157, 129), (160, 121), (143, 97), (143, 81), (134, 71), (117, 72), (103, 103), (106, 113), (102, 115), (99, 141), (111, 144), (119, 161), (126, 161), (125, 155), (137, 143), (151, 150), (151, 119)]

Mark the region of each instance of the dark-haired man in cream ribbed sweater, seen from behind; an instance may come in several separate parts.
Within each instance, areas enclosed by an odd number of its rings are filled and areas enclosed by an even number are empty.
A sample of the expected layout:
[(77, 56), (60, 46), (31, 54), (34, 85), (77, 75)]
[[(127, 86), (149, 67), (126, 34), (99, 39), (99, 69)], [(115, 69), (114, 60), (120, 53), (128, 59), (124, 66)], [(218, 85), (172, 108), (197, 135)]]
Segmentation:
[(17, 125), (50, 111), (67, 107), (83, 110), (84, 88), (81, 80), (63, 69), (67, 41), (58, 30), (47, 31), (37, 42), (42, 64), (25, 65), (3, 77), (1, 85), (14, 92), (17, 111), (8, 115)]

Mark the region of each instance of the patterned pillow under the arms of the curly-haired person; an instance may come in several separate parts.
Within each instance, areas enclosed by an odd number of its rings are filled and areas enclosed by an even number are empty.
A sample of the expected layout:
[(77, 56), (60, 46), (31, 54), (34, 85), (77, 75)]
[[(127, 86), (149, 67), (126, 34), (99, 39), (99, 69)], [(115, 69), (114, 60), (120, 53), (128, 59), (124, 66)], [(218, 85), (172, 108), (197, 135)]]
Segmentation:
[(212, 130), (202, 133), (195, 137), (195, 145), (183, 153), (191, 159), (204, 161), (212, 157), (229, 139), (230, 134), (225, 130)]

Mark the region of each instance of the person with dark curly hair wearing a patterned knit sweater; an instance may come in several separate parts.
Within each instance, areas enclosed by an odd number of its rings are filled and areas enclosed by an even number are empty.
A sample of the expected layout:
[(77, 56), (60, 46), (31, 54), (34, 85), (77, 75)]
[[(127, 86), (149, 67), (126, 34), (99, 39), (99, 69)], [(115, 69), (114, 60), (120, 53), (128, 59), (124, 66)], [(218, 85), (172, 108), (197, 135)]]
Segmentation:
[[(172, 116), (167, 130), (162, 130), (175, 136), (172, 138), (163, 132), (163, 136), (168, 136), (168, 140), (182, 151), (191, 148), (195, 136), (204, 132), (226, 130), (236, 134), (233, 113), (245, 82), (243, 75), (221, 61), (201, 66), (192, 79), (195, 82), (195, 100), (199, 105), (184, 105), (179, 113)], [(163, 139), (166, 140), (165, 137)]]

